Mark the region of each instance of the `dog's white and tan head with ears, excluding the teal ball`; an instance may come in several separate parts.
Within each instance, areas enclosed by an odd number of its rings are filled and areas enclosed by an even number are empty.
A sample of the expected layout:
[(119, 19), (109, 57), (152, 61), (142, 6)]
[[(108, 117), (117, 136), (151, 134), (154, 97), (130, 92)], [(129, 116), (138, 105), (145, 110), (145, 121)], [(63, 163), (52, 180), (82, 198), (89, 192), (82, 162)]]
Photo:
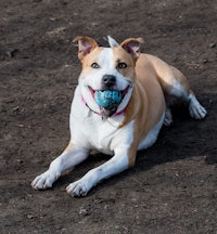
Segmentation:
[[(124, 109), (131, 96), (135, 82), (135, 66), (139, 57), (141, 38), (129, 38), (118, 44), (107, 37), (110, 48), (99, 47), (90, 37), (77, 37), (78, 57), (82, 64), (79, 77), (81, 95), (88, 106), (95, 113), (105, 117)], [(118, 91), (119, 102), (108, 108), (100, 106), (95, 101), (95, 92)]]

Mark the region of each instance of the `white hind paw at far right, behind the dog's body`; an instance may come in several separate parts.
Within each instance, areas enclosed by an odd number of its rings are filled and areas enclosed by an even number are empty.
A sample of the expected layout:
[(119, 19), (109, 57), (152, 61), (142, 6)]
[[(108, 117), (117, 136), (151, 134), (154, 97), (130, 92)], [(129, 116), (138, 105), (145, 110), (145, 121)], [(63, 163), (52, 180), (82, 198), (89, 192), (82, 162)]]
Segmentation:
[(190, 96), (189, 114), (194, 119), (203, 119), (207, 114), (206, 109), (200, 104), (193, 94)]

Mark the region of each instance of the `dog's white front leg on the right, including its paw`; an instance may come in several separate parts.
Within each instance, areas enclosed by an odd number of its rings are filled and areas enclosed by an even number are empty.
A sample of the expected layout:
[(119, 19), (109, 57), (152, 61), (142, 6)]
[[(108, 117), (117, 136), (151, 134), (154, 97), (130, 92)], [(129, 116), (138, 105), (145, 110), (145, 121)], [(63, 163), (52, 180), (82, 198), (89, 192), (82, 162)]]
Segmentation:
[(103, 179), (117, 174), (129, 167), (129, 148), (118, 148), (105, 164), (86, 173), (80, 180), (71, 183), (66, 191), (72, 196), (86, 196), (87, 193)]

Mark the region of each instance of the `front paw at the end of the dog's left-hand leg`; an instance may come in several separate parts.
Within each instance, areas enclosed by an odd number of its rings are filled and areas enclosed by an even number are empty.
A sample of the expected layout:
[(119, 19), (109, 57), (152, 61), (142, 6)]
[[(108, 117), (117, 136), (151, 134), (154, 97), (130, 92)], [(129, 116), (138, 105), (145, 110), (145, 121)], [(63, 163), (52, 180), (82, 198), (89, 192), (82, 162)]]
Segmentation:
[(54, 174), (48, 170), (42, 174), (36, 177), (35, 180), (31, 182), (31, 186), (35, 190), (47, 190), (52, 187), (53, 182), (58, 180), (58, 178), (59, 174)]

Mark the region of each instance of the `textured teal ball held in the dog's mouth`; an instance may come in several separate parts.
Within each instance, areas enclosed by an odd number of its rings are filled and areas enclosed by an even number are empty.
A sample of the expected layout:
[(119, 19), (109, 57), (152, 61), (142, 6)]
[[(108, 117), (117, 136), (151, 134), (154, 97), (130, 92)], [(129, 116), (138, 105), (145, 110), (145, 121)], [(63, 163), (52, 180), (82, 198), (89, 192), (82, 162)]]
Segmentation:
[(95, 103), (106, 109), (113, 109), (122, 101), (122, 91), (118, 90), (99, 90), (94, 93)]

